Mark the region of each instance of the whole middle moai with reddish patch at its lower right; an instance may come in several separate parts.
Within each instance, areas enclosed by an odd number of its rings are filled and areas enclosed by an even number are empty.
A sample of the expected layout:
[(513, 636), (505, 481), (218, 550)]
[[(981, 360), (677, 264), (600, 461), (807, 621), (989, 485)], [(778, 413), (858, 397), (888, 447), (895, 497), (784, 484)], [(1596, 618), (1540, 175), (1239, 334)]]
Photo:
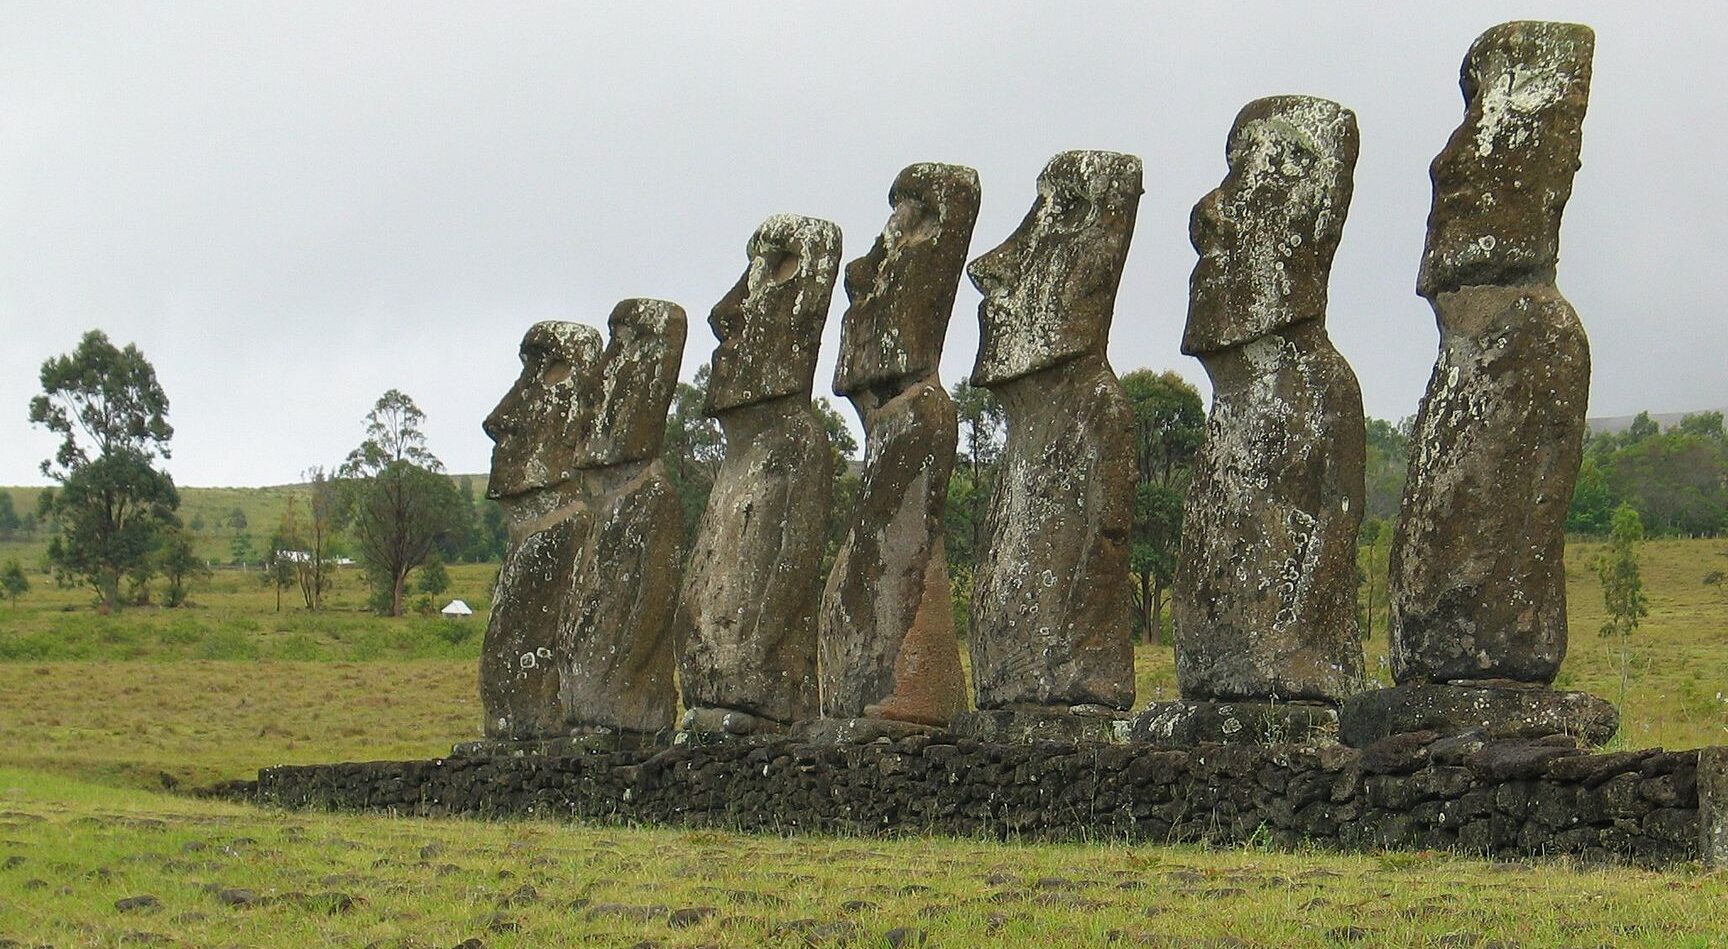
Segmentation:
[[(864, 475), (819, 617), (824, 719), (945, 726), (966, 709), (943, 508), (959, 441), (937, 363), (959, 290), (978, 173), (914, 164), (893, 213), (847, 266), (835, 394), (864, 422)], [(883, 724), (857, 723), (862, 736)]]

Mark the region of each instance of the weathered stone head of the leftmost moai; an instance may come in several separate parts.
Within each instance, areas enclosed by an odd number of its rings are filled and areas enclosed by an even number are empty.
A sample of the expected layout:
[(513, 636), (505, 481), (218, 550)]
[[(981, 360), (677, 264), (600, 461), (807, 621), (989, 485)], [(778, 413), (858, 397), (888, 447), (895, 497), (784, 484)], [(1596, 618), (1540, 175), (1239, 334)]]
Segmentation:
[(522, 375), (486, 417), (492, 439), (487, 498), (515, 498), (575, 475), (600, 334), (581, 323), (534, 323), (522, 337)]

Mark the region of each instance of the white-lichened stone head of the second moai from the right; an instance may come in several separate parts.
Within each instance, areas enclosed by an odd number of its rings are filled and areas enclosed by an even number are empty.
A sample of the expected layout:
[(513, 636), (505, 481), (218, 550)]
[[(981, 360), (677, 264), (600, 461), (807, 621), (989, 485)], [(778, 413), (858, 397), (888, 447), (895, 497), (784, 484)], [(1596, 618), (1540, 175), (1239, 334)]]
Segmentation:
[(1325, 283), (1350, 211), (1356, 116), (1305, 95), (1260, 99), (1230, 128), (1230, 171), (1194, 206), (1187, 354), (1325, 316)]

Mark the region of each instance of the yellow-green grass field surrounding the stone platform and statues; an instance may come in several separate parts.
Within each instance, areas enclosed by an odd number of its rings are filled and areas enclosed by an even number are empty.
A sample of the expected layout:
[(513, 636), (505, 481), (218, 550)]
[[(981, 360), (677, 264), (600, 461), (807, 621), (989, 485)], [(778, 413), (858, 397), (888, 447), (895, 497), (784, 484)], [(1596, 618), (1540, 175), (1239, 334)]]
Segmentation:
[[(1619, 700), (1567, 555), (1562, 685)], [(1728, 743), (1728, 541), (1645, 546), (1628, 747)], [(492, 567), (454, 567), (484, 608)], [(292, 596), (292, 593), (290, 593)], [(164, 788), (427, 757), (479, 731), (484, 615), (387, 621), (344, 574), (308, 614), (218, 572), (185, 610), (0, 605), (0, 946), (1719, 946), (1728, 876), (1441, 854), (833, 840), (256, 811)], [(1379, 667), (1384, 643), (1369, 643)], [(1175, 693), (1137, 653), (1142, 702)], [(154, 906), (116, 908), (128, 897)], [(712, 909), (712, 913), (703, 913)]]

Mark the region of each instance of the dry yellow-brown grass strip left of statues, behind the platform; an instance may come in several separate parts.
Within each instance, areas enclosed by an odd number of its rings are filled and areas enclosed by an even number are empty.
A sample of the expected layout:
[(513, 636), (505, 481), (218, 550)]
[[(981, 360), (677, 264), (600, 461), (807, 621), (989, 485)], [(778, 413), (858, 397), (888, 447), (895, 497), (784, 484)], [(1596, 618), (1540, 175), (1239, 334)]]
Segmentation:
[(473, 660), (0, 664), (0, 766), (118, 787), (434, 757), (479, 731)]

